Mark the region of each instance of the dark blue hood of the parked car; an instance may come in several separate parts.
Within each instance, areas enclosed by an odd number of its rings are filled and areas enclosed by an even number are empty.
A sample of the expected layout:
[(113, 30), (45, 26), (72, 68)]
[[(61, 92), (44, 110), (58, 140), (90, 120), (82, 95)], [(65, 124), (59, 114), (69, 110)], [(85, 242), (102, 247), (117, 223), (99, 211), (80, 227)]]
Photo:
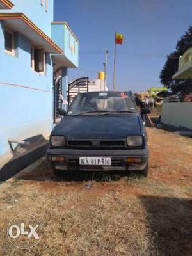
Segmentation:
[(52, 131), (52, 135), (64, 135), (67, 138), (126, 138), (140, 133), (137, 114), (65, 116)]

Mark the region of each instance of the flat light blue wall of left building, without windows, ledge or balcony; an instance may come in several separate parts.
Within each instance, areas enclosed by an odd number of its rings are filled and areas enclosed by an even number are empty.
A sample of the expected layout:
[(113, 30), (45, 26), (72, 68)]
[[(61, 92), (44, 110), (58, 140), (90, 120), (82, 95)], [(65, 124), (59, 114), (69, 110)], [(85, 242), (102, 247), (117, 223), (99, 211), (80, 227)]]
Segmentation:
[[(52, 4), (48, 12), (39, 0), (13, 0), (15, 6), (5, 12), (23, 12), (51, 37)], [(45, 0), (44, 0), (45, 3)], [(3, 12), (3, 10), (1, 10)], [(45, 75), (31, 69), (31, 43), (15, 33), (15, 56), (4, 50), (4, 22), (0, 21), (0, 156), (9, 151), (7, 139), (24, 140), (46, 135), (52, 128), (52, 62), (45, 56)]]

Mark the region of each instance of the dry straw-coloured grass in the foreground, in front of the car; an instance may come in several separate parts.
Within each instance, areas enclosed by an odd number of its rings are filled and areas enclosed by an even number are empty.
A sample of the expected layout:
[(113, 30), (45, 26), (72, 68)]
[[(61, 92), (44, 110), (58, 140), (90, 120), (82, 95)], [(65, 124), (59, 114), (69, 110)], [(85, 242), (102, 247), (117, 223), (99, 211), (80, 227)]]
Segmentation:
[[(1, 198), (0, 254), (189, 255), (192, 207), (178, 186), (136, 176), (93, 182), (92, 189), (86, 184), (13, 183)], [(33, 250), (19, 250), (6, 238), (8, 221), (25, 212), (44, 230)]]

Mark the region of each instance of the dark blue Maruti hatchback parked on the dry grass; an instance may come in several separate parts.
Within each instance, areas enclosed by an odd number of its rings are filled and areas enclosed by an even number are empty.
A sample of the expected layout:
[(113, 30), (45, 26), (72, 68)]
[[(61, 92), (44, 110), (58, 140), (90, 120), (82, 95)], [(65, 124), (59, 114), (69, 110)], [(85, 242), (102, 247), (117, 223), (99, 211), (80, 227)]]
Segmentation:
[(140, 171), (148, 173), (148, 140), (129, 92), (79, 93), (51, 132), (47, 158), (54, 173)]

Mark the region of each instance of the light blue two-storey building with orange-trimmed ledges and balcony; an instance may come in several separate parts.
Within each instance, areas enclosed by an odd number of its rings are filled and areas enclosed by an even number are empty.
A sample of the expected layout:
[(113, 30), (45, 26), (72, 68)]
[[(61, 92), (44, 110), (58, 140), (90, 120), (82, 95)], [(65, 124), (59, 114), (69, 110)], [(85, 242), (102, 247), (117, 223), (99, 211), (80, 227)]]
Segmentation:
[(10, 137), (47, 136), (65, 108), (79, 42), (53, 8), (54, 0), (0, 0), (0, 157)]

